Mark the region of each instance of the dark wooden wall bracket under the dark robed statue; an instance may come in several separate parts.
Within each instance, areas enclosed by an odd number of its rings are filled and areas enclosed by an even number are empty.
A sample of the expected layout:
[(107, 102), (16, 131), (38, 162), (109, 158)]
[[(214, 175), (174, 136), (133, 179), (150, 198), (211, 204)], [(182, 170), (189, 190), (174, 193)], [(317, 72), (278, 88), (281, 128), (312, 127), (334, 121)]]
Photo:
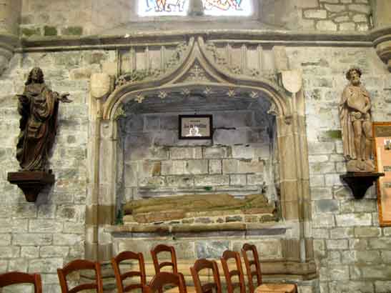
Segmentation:
[(45, 185), (54, 183), (54, 174), (51, 174), (51, 170), (49, 173), (43, 171), (9, 172), (7, 180), (23, 191), (27, 202), (35, 202)]

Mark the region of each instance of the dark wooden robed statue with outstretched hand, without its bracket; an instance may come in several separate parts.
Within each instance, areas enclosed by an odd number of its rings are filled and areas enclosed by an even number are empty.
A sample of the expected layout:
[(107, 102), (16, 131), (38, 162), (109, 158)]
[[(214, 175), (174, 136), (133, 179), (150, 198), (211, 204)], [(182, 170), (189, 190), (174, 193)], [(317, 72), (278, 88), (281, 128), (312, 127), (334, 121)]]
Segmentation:
[(46, 171), (56, 136), (59, 101), (70, 103), (68, 96), (51, 91), (40, 68), (31, 69), (24, 93), (17, 95), (21, 119), (16, 159), (21, 171)]

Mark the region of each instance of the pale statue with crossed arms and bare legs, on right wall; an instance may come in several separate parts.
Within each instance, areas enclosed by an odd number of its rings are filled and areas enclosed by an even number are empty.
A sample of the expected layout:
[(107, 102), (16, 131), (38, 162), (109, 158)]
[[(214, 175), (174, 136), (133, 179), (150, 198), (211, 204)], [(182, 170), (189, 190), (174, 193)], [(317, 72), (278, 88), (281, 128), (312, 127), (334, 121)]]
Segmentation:
[(362, 86), (362, 71), (352, 68), (347, 71), (350, 81), (342, 92), (340, 101), (340, 124), (347, 172), (374, 172), (372, 161), (372, 116), (370, 94)]

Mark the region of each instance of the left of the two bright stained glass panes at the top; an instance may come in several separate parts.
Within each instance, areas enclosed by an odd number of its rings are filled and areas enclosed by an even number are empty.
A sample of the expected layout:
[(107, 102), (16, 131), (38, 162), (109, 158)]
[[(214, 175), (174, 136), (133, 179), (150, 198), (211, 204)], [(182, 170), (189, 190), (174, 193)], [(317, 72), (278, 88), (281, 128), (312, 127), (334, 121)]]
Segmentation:
[(189, 0), (139, 0), (139, 16), (187, 15)]

